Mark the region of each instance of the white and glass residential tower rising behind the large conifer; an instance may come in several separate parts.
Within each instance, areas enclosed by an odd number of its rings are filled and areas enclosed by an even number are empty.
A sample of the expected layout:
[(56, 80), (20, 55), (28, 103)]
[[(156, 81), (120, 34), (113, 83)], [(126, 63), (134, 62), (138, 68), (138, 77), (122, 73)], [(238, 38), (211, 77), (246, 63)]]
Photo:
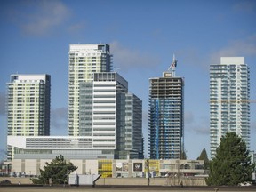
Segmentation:
[(227, 132), (236, 132), (250, 147), (250, 74), (244, 57), (221, 57), (210, 66), (212, 157)]

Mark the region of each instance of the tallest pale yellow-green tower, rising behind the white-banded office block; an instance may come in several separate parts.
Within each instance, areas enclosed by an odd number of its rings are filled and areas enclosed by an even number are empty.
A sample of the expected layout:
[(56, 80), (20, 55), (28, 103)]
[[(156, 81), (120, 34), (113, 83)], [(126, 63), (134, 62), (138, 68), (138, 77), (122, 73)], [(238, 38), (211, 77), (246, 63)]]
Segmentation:
[(70, 136), (81, 135), (79, 128), (79, 108), (83, 108), (80, 106), (81, 88), (86, 88), (86, 83), (92, 82), (95, 72), (109, 72), (111, 68), (112, 55), (108, 44), (70, 44), (68, 74), (68, 134)]

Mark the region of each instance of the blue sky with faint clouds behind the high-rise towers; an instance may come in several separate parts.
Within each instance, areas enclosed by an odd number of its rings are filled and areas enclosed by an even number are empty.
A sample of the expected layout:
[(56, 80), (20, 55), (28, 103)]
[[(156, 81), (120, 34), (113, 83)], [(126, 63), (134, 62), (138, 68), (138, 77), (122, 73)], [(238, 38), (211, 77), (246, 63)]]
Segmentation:
[[(110, 44), (115, 70), (143, 101), (148, 129), (148, 79), (178, 60), (185, 78), (185, 149), (210, 156), (209, 66), (242, 56), (256, 99), (254, 0), (0, 0), (0, 148), (6, 145), (4, 98), (11, 74), (52, 76), (52, 135), (68, 135), (69, 44)], [(256, 103), (251, 105), (251, 149), (256, 150)], [(147, 135), (144, 135), (147, 138)], [(0, 157), (3, 157), (1, 155)]]

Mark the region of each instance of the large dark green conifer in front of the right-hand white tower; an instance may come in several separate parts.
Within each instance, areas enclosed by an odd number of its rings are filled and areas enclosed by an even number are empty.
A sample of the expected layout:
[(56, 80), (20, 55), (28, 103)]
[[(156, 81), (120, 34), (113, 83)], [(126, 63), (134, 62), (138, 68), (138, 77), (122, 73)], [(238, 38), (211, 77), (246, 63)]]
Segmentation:
[(228, 132), (220, 139), (216, 156), (210, 163), (210, 174), (206, 183), (236, 186), (244, 181), (252, 181), (254, 166), (245, 142), (236, 135), (236, 132)]

